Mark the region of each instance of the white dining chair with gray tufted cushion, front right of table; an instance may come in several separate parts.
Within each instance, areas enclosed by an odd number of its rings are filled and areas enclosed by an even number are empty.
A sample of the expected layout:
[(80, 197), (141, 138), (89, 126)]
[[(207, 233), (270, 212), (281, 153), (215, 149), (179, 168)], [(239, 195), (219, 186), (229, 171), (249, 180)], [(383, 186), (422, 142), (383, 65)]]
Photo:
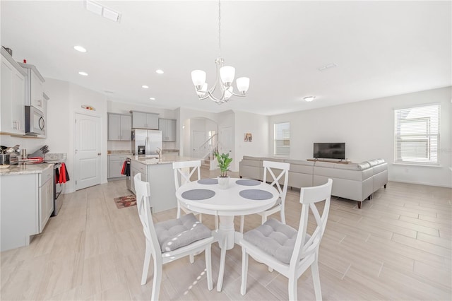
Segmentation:
[[(249, 255), (256, 261), (266, 264), (289, 279), (289, 300), (297, 300), (297, 281), (300, 276), (311, 267), (312, 279), (316, 300), (321, 300), (319, 276), (319, 246), (325, 232), (328, 212), (331, 202), (331, 187), (333, 180), (328, 179), (326, 184), (316, 187), (302, 188), (299, 201), (302, 203), (298, 231), (270, 219), (258, 228), (246, 232), (242, 244), (242, 286), (240, 293), (246, 293), (246, 276), (248, 273)], [(319, 213), (321, 202), (323, 210)], [(317, 208), (319, 206), (319, 208)], [(311, 215), (309, 215), (311, 211)], [(308, 219), (314, 218), (310, 223), (316, 224), (314, 232), (309, 234)]]

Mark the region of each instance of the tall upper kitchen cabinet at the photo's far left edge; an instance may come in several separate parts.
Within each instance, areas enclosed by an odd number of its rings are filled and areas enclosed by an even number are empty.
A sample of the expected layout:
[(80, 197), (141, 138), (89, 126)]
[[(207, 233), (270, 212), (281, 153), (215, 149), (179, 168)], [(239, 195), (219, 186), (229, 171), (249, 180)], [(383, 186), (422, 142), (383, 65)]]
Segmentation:
[(25, 134), (25, 78), (27, 73), (1, 48), (0, 132)]

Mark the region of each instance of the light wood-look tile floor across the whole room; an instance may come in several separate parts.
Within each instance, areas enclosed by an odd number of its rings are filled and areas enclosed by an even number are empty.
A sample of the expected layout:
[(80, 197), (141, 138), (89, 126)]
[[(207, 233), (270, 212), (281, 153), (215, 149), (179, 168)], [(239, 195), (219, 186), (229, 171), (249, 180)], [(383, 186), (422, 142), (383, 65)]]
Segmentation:
[[(202, 177), (216, 172), (202, 170)], [(236, 173), (232, 173), (236, 176)], [(58, 216), (30, 246), (1, 252), (1, 300), (148, 300), (140, 285), (144, 237), (136, 207), (117, 209), (130, 194), (124, 181), (64, 195)], [(324, 300), (451, 300), (452, 189), (389, 182), (374, 199), (333, 197), (319, 264)], [(299, 189), (289, 189), (286, 220), (298, 228)], [(155, 222), (176, 211), (154, 215)], [(279, 219), (279, 216), (276, 215)], [(213, 217), (203, 215), (213, 228)], [(246, 216), (245, 231), (260, 216)], [(239, 218), (235, 219), (239, 229)], [(208, 291), (203, 254), (163, 268), (162, 300), (287, 300), (287, 279), (249, 262), (247, 293), (240, 295), (242, 252), (227, 252), (223, 290), (215, 290), (220, 249), (212, 248), (214, 290)], [(310, 271), (298, 281), (300, 300), (314, 299)]]

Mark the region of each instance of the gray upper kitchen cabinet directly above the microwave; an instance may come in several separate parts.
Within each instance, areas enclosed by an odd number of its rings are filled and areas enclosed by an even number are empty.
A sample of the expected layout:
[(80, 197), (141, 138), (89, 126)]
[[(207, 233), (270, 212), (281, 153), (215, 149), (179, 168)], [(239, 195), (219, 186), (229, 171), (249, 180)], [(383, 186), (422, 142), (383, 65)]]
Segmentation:
[(44, 112), (43, 85), (44, 78), (31, 64), (18, 63), (27, 73), (25, 78), (25, 105), (32, 105)]

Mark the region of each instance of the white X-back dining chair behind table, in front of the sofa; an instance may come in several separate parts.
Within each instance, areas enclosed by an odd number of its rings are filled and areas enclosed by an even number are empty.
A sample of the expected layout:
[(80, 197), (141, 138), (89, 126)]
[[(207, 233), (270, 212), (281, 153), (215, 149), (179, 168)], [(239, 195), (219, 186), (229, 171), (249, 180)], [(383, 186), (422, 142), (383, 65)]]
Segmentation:
[[(278, 189), (278, 192), (280, 194), (280, 197), (278, 201), (275, 203), (275, 206), (273, 206), (270, 209), (267, 209), (266, 211), (258, 213), (262, 217), (262, 223), (265, 223), (268, 216), (271, 216), (273, 213), (277, 213), (280, 211), (281, 213), (281, 222), (285, 224), (285, 195), (287, 194), (287, 182), (289, 181), (289, 163), (283, 163), (283, 162), (275, 162), (275, 161), (263, 161), (263, 182), (271, 182), (270, 185)], [(278, 172), (275, 172), (275, 170), (281, 170), (281, 172), (278, 174)], [(275, 175), (278, 174), (278, 176)], [(268, 177), (269, 175), (270, 177)], [(283, 179), (284, 184), (280, 184), (280, 180)], [(281, 187), (283, 186), (283, 187)], [(245, 224), (245, 216), (240, 216), (240, 232), (243, 233)]]

